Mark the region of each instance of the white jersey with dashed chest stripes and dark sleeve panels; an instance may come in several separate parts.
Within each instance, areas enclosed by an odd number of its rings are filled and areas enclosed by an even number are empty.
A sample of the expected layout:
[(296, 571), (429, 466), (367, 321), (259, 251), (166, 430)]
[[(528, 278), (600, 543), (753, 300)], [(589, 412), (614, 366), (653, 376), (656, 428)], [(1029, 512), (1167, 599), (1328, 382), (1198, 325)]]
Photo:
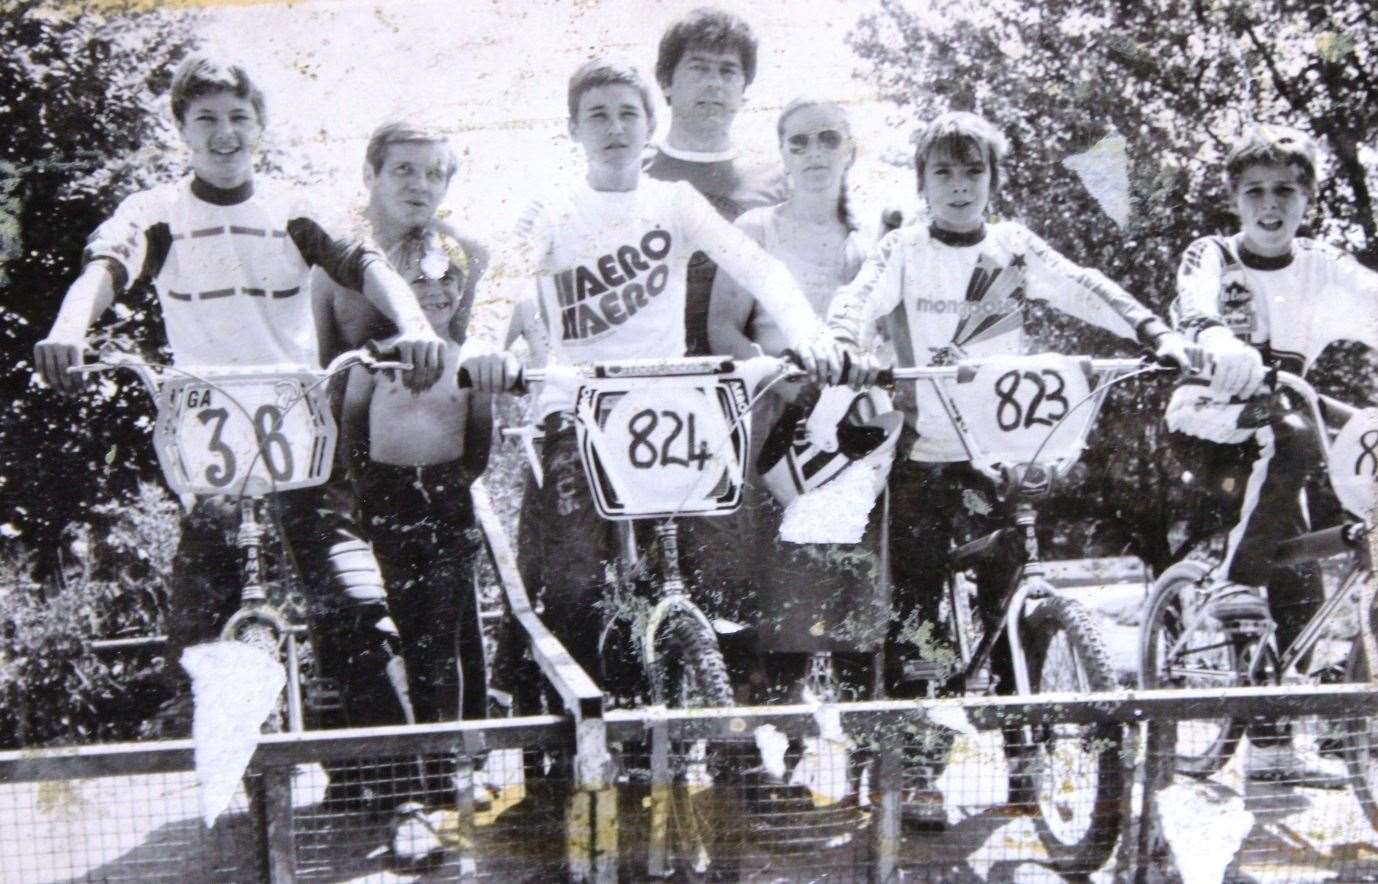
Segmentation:
[(147, 280), (179, 365), (316, 366), (306, 271), (361, 289), (380, 256), (336, 240), (302, 194), (273, 182), (232, 190), (189, 178), (127, 197), (87, 241), (116, 292)]

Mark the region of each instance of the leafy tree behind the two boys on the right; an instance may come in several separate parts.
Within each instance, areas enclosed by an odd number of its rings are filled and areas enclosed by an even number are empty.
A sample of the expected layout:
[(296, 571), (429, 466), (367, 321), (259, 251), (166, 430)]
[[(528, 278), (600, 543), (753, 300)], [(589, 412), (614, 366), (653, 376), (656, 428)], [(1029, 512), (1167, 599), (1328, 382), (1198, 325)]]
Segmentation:
[[(966, 109), (996, 123), (1011, 142), (996, 211), (1017, 213), (1163, 314), (1182, 249), (1232, 229), (1221, 160), (1253, 121), (1299, 125), (1322, 140), (1312, 234), (1378, 266), (1364, 171), (1378, 125), (1375, 18), (1359, 0), (933, 0), (922, 11), (882, 0), (850, 41), (881, 94), (916, 118)], [(1062, 165), (1116, 134), (1130, 165), (1123, 229)], [(1064, 352), (1111, 346), (1051, 317), (1038, 317), (1036, 330)], [(1375, 376), (1371, 354), (1353, 348), (1326, 365), (1334, 368), (1317, 377), (1348, 380), (1350, 394), (1355, 376)], [(1112, 395), (1102, 427), (1115, 434), (1100, 434), (1087, 459), (1090, 493), (1065, 504), (1083, 522), (1127, 526), (1124, 541), (1155, 566), (1171, 556), (1177, 514), (1203, 503), (1163, 456), (1167, 391), (1166, 381), (1135, 381)]]

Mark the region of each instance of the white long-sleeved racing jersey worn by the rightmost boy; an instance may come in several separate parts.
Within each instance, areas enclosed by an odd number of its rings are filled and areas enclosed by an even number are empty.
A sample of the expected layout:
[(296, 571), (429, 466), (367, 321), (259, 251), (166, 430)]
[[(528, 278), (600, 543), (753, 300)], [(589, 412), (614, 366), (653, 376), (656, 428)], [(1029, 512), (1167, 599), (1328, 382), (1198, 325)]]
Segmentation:
[(1193, 339), (1225, 326), (1269, 365), (1301, 373), (1338, 340), (1378, 348), (1378, 274), (1315, 240), (1265, 257), (1237, 235), (1202, 237), (1177, 269), (1171, 317)]

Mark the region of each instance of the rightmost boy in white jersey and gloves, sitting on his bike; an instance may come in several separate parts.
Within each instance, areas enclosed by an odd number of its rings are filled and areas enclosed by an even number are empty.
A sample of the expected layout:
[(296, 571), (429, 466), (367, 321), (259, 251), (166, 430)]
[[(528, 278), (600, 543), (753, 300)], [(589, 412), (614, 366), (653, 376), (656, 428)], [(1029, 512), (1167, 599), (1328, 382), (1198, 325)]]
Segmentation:
[[(1304, 486), (1319, 464), (1310, 410), (1287, 392), (1262, 388), (1264, 368), (1302, 373), (1337, 340), (1378, 348), (1378, 274), (1297, 230), (1316, 193), (1316, 146), (1283, 127), (1244, 134), (1225, 158), (1225, 178), (1239, 233), (1202, 237), (1177, 270), (1177, 328), (1200, 344), (1225, 348), (1210, 386), (1188, 381), (1173, 394), (1167, 425), (1185, 443), (1207, 485), (1232, 501), (1232, 467), (1247, 481), (1229, 532), (1221, 573), (1266, 587), (1259, 596), (1233, 595), (1217, 615), (1264, 620), (1272, 613), (1286, 649), (1324, 600), (1315, 563), (1275, 566), (1273, 551), (1308, 530)], [(1242, 600), (1240, 600), (1242, 599)], [(1302, 753), (1286, 727), (1254, 727), (1248, 775), (1341, 788), (1344, 764)]]

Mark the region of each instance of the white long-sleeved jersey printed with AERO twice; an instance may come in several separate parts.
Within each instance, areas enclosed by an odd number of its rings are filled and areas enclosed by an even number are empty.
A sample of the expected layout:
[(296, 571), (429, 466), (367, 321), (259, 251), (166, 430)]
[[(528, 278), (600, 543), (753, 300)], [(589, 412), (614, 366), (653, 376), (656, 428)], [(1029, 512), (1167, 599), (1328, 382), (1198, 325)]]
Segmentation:
[[(825, 329), (790, 271), (722, 220), (690, 185), (642, 179), (635, 190), (586, 183), (539, 200), (518, 226), (518, 263), (537, 278), (550, 361), (685, 354), (685, 271), (706, 252), (755, 295), (799, 344)], [(573, 408), (550, 384), (537, 414)]]

